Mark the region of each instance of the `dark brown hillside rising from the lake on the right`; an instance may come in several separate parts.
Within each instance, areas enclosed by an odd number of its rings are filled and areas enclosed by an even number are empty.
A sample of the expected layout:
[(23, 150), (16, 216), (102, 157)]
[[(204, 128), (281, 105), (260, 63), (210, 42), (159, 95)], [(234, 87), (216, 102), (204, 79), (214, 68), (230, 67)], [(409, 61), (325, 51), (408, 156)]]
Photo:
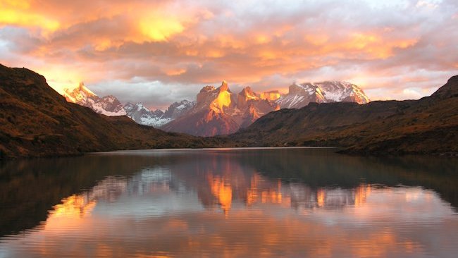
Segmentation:
[(458, 75), (419, 100), (282, 109), (230, 137), (240, 146), (338, 146), (359, 154), (458, 152)]

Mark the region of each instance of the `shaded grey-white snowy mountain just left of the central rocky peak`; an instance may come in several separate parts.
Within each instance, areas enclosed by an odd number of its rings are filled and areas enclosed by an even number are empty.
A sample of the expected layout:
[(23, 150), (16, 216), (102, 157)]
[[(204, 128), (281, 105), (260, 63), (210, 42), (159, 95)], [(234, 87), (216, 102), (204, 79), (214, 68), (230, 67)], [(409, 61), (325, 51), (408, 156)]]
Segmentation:
[(141, 125), (159, 127), (171, 121), (171, 118), (167, 118), (163, 111), (159, 109), (151, 111), (142, 103), (132, 104), (128, 102), (125, 104), (124, 110), (128, 117)]

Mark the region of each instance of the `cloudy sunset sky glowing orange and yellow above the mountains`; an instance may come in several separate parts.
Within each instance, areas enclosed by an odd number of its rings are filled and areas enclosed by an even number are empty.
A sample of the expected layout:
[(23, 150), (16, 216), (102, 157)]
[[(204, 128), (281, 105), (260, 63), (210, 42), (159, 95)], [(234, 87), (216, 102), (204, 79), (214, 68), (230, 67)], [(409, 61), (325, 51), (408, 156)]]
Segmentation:
[(0, 63), (161, 109), (222, 80), (419, 99), (458, 74), (458, 1), (0, 0)]

